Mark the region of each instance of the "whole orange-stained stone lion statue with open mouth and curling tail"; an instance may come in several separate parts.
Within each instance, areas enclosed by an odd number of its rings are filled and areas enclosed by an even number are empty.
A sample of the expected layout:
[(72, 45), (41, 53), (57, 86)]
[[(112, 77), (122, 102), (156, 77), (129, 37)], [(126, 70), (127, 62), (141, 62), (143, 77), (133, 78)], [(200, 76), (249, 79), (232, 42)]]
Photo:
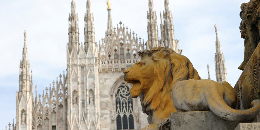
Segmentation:
[(251, 109), (233, 109), (239, 103), (229, 83), (201, 80), (190, 60), (173, 49), (152, 48), (139, 56), (141, 60), (123, 73), (133, 84), (131, 96), (139, 96), (142, 111), (148, 114), (150, 125), (144, 129), (158, 128), (177, 111), (211, 110), (220, 118), (240, 122), (255, 118), (260, 110), (260, 100), (252, 101)]

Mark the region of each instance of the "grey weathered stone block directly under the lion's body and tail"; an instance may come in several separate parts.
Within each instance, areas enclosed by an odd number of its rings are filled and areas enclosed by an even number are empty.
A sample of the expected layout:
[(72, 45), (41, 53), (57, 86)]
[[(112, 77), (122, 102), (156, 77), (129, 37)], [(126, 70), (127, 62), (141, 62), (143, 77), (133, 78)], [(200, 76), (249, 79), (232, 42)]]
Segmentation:
[(234, 130), (239, 124), (219, 118), (211, 111), (174, 112), (171, 130)]

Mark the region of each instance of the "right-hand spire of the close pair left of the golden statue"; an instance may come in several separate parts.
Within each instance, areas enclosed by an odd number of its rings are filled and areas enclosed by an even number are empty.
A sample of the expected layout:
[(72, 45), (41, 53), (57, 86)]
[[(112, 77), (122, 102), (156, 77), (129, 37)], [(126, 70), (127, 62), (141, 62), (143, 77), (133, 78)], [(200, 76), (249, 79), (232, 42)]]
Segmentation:
[(85, 51), (87, 53), (88, 48), (92, 49), (92, 53), (95, 52), (96, 43), (95, 43), (95, 28), (94, 28), (94, 17), (93, 13), (91, 13), (91, 4), (90, 0), (87, 0), (87, 13), (85, 13), (84, 21), (85, 21), (85, 28), (84, 28), (84, 35), (85, 35)]

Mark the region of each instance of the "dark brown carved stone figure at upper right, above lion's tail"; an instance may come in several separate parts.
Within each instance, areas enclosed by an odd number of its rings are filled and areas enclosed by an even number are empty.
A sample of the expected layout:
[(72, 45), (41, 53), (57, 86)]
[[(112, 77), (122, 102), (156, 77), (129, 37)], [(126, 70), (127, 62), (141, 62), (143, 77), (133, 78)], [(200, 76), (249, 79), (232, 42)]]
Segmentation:
[(243, 70), (248, 63), (251, 55), (253, 54), (255, 48), (257, 47), (260, 41), (259, 28), (259, 1), (249, 1), (248, 3), (242, 3), (240, 8), (240, 18), (242, 21), (240, 22), (240, 32), (241, 38), (244, 40), (244, 60), (241, 65), (238, 67)]

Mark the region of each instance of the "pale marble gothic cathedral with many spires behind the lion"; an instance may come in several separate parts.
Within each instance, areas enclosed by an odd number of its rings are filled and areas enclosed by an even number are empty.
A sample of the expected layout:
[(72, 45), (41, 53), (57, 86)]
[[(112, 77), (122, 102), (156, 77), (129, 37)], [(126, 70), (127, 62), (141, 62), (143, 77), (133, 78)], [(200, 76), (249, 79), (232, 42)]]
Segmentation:
[[(27, 59), (26, 31), (24, 32), (19, 91), (16, 94), (16, 125), (13, 124), (13, 129), (116, 130), (140, 129), (148, 125), (139, 97), (133, 99), (130, 96), (129, 89), (132, 85), (124, 81), (123, 71), (140, 60), (138, 52), (144, 49), (163, 46), (182, 53), (178, 49), (179, 41), (174, 38), (169, 1), (164, 0), (165, 10), (163, 15), (160, 13), (159, 39), (153, 0), (149, 0), (146, 43), (122, 22), (113, 28), (111, 3), (109, 0), (106, 3), (108, 22), (105, 38), (99, 43), (95, 41), (94, 16), (90, 0), (87, 0), (84, 17), (85, 41), (80, 43), (78, 14), (72, 0), (66, 72), (60, 74), (42, 94), (37, 93), (35, 86), (35, 97), (32, 72), (30, 73)], [(220, 48), (218, 37), (216, 46)], [(216, 59), (221, 61), (223, 56), (220, 49), (217, 52)], [(221, 71), (221, 74), (226, 79), (225, 71)]]

